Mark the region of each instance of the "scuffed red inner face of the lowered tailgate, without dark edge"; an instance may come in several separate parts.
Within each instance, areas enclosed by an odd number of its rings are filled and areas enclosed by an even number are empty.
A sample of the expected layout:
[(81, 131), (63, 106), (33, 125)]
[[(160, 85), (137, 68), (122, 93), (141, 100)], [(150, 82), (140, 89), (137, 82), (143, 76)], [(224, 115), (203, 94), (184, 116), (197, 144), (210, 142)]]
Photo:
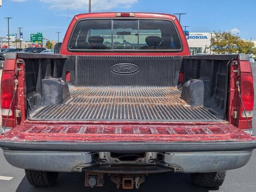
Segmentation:
[(43, 125), (21, 124), (5, 133), (9, 141), (179, 142), (253, 141), (234, 125)]

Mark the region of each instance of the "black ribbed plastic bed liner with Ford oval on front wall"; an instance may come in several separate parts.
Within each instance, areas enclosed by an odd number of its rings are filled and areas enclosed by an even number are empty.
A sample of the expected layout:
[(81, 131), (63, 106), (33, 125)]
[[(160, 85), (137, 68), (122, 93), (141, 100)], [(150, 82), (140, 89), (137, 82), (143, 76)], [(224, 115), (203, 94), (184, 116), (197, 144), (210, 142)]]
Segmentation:
[[(120, 121), (226, 120), (228, 65), (238, 57), (18, 56), (26, 63), (28, 119)], [(180, 99), (179, 72), (184, 82), (203, 82), (203, 104)]]

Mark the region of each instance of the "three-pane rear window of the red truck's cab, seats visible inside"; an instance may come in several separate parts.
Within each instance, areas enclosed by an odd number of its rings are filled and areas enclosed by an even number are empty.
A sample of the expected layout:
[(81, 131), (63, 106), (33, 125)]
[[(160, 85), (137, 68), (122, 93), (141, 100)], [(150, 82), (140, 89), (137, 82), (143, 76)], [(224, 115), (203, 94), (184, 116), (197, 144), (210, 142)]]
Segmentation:
[(71, 50), (179, 50), (180, 39), (164, 20), (84, 20), (72, 34)]

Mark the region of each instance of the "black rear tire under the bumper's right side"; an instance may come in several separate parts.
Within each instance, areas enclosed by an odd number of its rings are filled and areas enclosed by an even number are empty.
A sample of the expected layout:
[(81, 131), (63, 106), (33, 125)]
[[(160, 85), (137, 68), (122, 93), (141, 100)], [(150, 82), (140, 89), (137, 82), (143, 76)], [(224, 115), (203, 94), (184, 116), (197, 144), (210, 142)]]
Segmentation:
[(223, 184), (226, 171), (191, 173), (194, 184), (200, 187), (219, 187)]

